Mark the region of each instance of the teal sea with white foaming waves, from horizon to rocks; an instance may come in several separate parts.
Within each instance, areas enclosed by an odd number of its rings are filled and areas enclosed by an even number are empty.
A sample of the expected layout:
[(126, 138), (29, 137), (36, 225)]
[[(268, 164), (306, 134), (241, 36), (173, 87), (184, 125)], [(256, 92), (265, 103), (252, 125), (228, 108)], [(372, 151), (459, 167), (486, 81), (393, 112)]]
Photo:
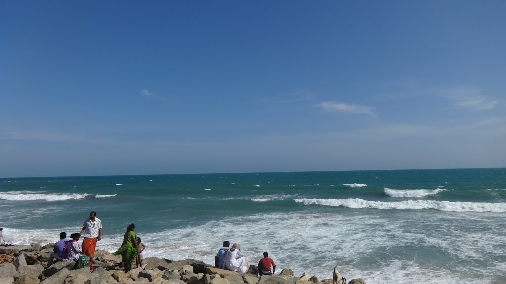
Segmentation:
[(144, 257), (214, 264), (223, 241), (276, 272), (366, 283), (506, 283), (506, 168), (0, 178), (8, 243), (130, 223)]

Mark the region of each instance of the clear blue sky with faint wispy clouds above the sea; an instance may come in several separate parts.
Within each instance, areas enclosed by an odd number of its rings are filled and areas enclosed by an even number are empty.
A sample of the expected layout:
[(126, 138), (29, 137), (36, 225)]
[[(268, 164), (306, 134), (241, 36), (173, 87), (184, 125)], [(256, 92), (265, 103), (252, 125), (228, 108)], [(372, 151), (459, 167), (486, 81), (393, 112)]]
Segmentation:
[(504, 11), (0, 0), (0, 177), (506, 167)]

